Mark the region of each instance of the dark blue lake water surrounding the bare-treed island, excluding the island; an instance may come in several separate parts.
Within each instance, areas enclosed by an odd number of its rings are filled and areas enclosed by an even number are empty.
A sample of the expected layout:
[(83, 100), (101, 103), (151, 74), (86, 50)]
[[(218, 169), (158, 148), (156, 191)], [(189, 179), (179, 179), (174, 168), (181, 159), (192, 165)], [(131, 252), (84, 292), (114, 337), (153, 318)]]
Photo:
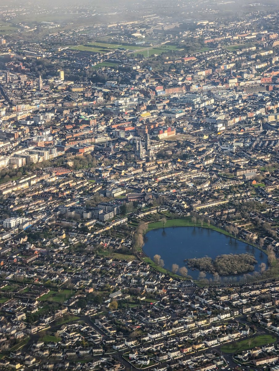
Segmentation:
[[(225, 234), (199, 227), (170, 227), (165, 228), (165, 231), (163, 229), (152, 230), (145, 235), (143, 251), (151, 259), (154, 255), (159, 254), (165, 262), (164, 267), (169, 270), (174, 263), (179, 267), (185, 266), (184, 259), (206, 255), (215, 259), (218, 255), (243, 253), (255, 256), (258, 261), (255, 265), (255, 272), (259, 271), (260, 263), (265, 263), (268, 266), (266, 254), (255, 247), (248, 246), (247, 243), (225, 236)], [(253, 271), (246, 273), (253, 274)], [(188, 268), (188, 275), (197, 279), (199, 271)], [(241, 278), (243, 275), (236, 276)], [(212, 275), (207, 273), (206, 278), (212, 278)]]

